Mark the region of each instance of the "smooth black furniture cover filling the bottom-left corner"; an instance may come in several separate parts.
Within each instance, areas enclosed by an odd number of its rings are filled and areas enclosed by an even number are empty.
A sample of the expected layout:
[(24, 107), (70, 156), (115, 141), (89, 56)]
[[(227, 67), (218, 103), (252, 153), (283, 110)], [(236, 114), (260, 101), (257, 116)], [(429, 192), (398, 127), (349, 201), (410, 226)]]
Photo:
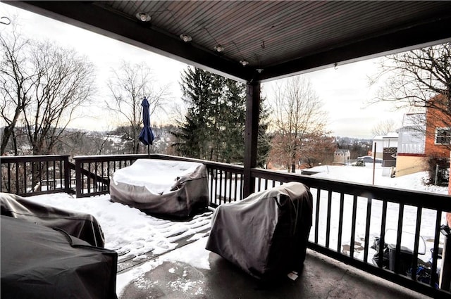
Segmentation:
[(116, 299), (117, 260), (64, 231), (1, 215), (2, 299)]

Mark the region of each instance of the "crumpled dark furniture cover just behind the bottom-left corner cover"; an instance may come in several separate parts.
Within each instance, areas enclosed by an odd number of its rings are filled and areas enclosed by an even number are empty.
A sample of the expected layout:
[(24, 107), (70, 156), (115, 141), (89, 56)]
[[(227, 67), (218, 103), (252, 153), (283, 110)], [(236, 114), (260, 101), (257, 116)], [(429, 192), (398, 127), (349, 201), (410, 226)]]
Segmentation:
[(0, 193), (1, 215), (27, 220), (45, 227), (63, 229), (92, 246), (104, 247), (105, 238), (99, 222), (89, 214), (35, 203), (21, 196)]

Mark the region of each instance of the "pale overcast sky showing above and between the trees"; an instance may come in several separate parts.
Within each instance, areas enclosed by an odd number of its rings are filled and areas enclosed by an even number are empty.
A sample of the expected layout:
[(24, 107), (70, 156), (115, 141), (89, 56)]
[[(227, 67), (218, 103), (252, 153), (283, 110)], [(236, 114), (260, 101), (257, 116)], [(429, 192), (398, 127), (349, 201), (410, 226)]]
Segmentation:
[[(16, 18), (20, 31), (27, 37), (50, 39), (61, 46), (73, 47), (78, 53), (85, 55), (97, 68), (97, 103), (103, 104), (109, 98), (106, 82), (111, 68), (118, 68), (121, 61), (130, 63), (147, 63), (154, 70), (154, 78), (160, 86), (168, 85), (171, 91), (171, 102), (181, 103), (180, 72), (187, 65), (156, 53), (144, 51), (102, 35), (82, 30), (78, 27), (45, 18), (35, 13), (23, 11), (13, 6), (0, 3), (0, 17)], [(0, 24), (0, 34), (11, 31), (11, 25)], [(375, 89), (368, 87), (367, 76), (376, 72), (378, 59), (362, 61), (348, 65), (338, 65), (338, 68), (328, 68), (310, 72), (309, 77), (316, 94), (328, 111), (328, 129), (335, 136), (354, 136), (372, 138), (371, 130), (384, 120), (393, 120), (399, 125), (402, 122), (402, 112), (393, 111), (388, 105), (377, 104), (368, 107), (366, 104), (374, 97)], [(271, 83), (262, 84), (267, 98), (272, 95)], [(80, 129), (111, 129), (113, 125), (104, 113), (92, 109), (101, 117), (84, 117), (76, 120), (71, 127)], [(152, 123), (161, 123), (166, 119), (163, 113), (152, 116)]]

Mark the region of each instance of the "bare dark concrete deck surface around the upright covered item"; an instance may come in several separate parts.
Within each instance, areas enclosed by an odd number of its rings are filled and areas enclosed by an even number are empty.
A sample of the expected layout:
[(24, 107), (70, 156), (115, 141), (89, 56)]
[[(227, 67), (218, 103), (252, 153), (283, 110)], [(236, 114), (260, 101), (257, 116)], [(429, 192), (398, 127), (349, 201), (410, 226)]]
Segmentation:
[[(185, 246), (177, 250), (190, 249)], [(180, 251), (183, 254), (186, 252)], [(202, 254), (208, 255), (210, 269), (198, 269), (184, 262), (163, 262), (144, 273), (139, 281), (125, 286), (119, 298), (429, 298), (313, 250), (307, 250), (304, 269), (295, 281), (287, 277), (273, 285), (261, 284), (216, 253), (205, 250)]]

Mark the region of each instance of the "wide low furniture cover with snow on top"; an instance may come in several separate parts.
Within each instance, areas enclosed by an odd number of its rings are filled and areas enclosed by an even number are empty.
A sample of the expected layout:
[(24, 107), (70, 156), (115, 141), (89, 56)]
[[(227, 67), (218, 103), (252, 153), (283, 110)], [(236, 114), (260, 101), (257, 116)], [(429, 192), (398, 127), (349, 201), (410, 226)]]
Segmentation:
[(114, 172), (110, 196), (150, 215), (189, 217), (209, 206), (208, 174), (202, 163), (138, 159)]

